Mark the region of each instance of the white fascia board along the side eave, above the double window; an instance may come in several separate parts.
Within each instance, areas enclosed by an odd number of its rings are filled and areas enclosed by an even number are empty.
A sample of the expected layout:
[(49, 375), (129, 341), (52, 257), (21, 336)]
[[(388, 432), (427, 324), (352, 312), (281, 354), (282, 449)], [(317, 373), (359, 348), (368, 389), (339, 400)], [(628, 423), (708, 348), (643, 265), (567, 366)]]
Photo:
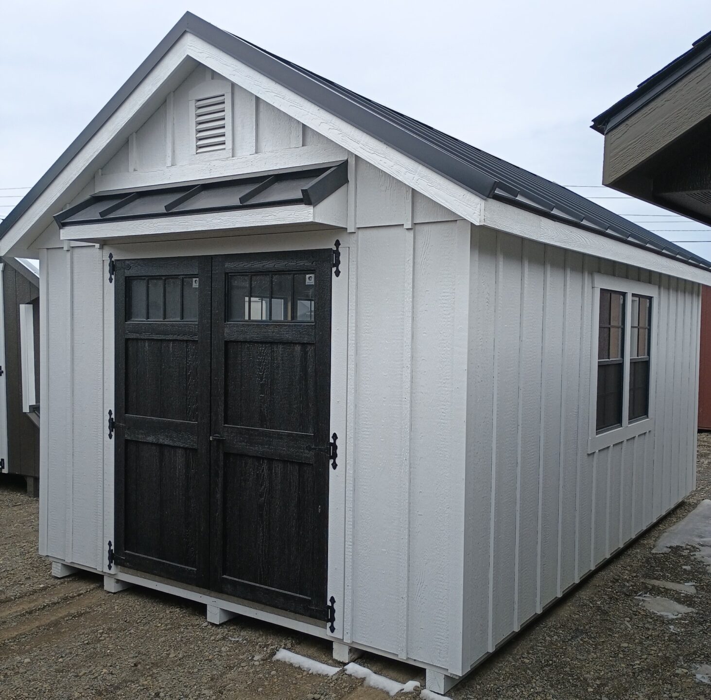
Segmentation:
[(614, 260), (618, 263), (642, 267), (645, 270), (661, 272), (663, 275), (680, 277), (682, 280), (711, 285), (711, 272), (700, 267), (692, 267), (653, 253), (651, 250), (636, 248), (629, 243), (622, 243), (567, 223), (552, 221), (496, 199), (487, 199), (483, 203), (481, 224), (505, 233), (520, 235), (521, 238), (536, 240), (538, 243), (577, 250), (579, 253), (594, 255), (596, 258)]

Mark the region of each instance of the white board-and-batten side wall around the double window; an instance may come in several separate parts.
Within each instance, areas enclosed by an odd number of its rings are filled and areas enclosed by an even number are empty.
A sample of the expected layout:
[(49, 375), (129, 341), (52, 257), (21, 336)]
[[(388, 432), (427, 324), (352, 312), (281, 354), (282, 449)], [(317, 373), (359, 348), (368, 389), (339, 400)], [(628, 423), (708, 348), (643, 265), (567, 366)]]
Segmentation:
[[(471, 238), (466, 672), (695, 485), (700, 285), (484, 227)], [(658, 286), (654, 427), (588, 452), (593, 275)]]

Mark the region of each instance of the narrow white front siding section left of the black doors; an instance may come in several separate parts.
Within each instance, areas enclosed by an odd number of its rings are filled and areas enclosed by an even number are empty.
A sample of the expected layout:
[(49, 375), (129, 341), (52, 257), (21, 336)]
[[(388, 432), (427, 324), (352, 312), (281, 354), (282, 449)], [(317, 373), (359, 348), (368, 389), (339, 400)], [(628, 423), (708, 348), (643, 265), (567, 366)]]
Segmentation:
[[(102, 569), (103, 265), (93, 245), (48, 248), (40, 265), (40, 553)], [(50, 501), (48, 501), (50, 499)]]

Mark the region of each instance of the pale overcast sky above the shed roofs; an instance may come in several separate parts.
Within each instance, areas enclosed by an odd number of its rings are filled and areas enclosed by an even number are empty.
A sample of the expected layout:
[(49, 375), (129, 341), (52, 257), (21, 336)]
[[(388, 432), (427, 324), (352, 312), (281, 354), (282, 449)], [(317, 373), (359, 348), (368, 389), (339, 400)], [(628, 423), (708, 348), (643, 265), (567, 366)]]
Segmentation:
[[(0, 216), (188, 9), (572, 186), (601, 181), (592, 117), (711, 30), (709, 0), (4, 2)], [(706, 227), (614, 191), (575, 189), (671, 240), (711, 240)], [(711, 259), (711, 243), (683, 245)]]

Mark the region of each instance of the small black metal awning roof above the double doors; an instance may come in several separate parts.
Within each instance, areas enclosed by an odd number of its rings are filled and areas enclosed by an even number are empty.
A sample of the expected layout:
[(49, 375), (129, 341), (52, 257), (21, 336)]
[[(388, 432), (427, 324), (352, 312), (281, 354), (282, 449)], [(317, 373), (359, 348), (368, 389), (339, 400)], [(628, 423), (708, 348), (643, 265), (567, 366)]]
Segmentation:
[(285, 204), (314, 206), (348, 182), (346, 161), (277, 175), (244, 176), (120, 193), (97, 193), (54, 215), (60, 227)]

